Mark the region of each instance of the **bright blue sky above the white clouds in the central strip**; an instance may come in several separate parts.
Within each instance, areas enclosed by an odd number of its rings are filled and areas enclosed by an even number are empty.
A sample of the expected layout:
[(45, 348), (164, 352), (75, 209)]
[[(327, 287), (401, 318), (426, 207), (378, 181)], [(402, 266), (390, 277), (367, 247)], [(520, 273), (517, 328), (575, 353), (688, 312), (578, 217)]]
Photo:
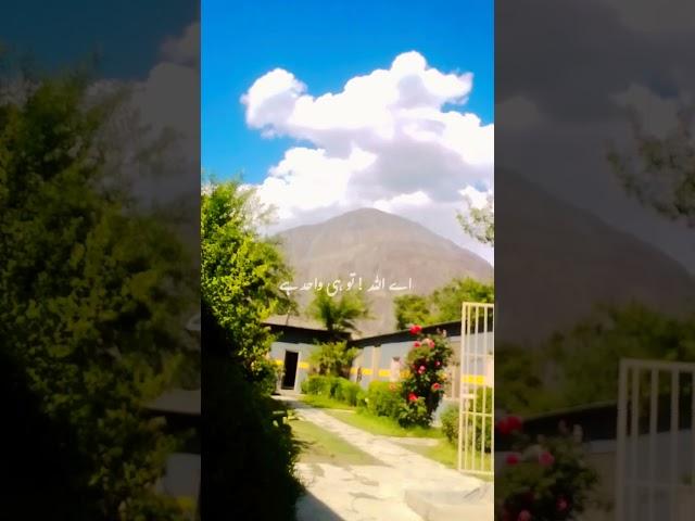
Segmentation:
[(308, 93), (338, 92), (350, 78), (388, 68), (416, 50), (444, 73), (472, 72), (466, 111), (492, 123), (492, 1), (205, 0), (202, 8), (202, 166), (218, 178), (243, 171), (261, 182), (293, 143), (264, 139), (244, 122), (240, 97), (265, 73), (285, 68)]

